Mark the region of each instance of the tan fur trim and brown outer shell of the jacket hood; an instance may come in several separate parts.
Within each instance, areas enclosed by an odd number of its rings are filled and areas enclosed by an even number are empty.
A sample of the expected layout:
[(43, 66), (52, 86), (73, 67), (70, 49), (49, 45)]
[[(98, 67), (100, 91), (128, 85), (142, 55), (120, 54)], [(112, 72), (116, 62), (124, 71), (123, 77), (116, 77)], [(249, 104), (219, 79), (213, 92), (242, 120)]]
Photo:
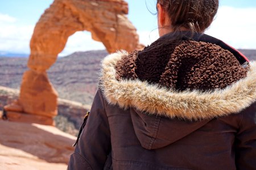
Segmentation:
[(256, 62), (249, 62), (245, 78), (223, 89), (177, 91), (139, 79), (117, 79), (116, 65), (128, 55), (121, 51), (102, 61), (100, 89), (109, 104), (130, 108), (135, 133), (144, 148), (170, 145), (212, 118), (239, 113), (256, 101)]

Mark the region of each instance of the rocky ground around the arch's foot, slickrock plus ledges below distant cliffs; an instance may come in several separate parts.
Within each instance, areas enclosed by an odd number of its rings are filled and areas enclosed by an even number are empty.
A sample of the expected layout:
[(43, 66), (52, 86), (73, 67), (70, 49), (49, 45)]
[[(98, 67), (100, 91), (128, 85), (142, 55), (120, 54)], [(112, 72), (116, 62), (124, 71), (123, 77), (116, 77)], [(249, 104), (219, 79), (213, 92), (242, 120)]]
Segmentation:
[[(18, 96), (19, 90), (0, 86), (0, 117), (2, 107)], [(67, 169), (77, 129), (89, 108), (89, 105), (58, 99), (56, 128), (0, 119), (0, 170)]]

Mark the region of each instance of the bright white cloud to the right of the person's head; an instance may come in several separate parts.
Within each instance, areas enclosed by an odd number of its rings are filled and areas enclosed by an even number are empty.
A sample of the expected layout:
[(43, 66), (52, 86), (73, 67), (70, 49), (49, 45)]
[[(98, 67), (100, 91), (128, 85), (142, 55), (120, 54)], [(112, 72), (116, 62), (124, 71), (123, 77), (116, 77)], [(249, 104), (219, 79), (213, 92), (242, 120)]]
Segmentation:
[(256, 49), (256, 8), (222, 6), (205, 32), (234, 48)]

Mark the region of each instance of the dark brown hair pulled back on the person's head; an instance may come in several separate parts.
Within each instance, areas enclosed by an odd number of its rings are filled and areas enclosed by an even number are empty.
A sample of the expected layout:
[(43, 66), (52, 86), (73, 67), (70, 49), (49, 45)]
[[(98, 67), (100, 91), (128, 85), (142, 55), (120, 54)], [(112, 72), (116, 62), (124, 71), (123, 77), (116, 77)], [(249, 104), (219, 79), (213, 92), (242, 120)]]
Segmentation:
[(218, 0), (157, 0), (168, 13), (174, 31), (204, 32), (218, 10)]

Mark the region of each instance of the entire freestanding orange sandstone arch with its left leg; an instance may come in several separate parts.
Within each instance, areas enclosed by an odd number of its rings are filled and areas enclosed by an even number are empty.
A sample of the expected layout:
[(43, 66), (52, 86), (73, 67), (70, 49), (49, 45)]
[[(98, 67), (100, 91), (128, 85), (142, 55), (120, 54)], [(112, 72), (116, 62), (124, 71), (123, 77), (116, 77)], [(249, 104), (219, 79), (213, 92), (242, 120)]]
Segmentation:
[[(109, 53), (141, 48), (135, 27), (127, 19), (128, 5), (123, 0), (55, 0), (36, 24), (30, 42), (30, 70), (23, 75), (20, 96), (6, 111), (36, 115), (40, 124), (52, 124), (57, 114), (57, 92), (47, 77), (47, 69), (76, 31), (89, 31)], [(22, 114), (19, 114), (22, 116)], [(15, 117), (15, 116), (14, 116)], [(44, 123), (45, 122), (45, 123)]]

